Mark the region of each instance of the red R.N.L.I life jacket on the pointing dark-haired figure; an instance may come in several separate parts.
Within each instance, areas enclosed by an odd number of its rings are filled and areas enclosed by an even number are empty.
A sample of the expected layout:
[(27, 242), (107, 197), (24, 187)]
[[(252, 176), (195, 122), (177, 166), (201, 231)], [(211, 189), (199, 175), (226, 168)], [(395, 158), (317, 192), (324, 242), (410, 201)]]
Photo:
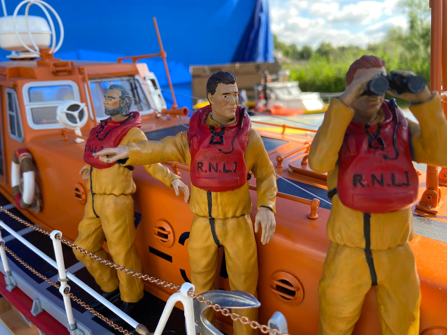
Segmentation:
[(247, 182), (245, 149), (251, 121), (245, 108), (237, 106), (234, 124), (207, 126), (210, 113), (211, 105), (207, 105), (190, 118), (191, 183), (211, 192), (232, 191)]

